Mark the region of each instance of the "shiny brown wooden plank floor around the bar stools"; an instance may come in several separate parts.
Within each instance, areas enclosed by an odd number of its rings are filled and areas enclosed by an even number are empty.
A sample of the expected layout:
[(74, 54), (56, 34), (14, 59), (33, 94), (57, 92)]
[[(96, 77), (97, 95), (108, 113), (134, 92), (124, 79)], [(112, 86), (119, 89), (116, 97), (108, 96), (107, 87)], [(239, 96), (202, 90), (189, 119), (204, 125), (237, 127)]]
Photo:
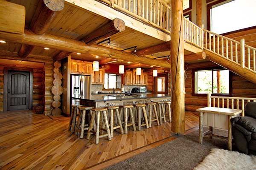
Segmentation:
[[(94, 144), (93, 135), (90, 140), (70, 135), (68, 117), (51, 117), (33, 111), (0, 113), (0, 169), (101, 169), (175, 139), (171, 123), (163, 123), (125, 135), (116, 133), (111, 141), (104, 138)], [(189, 132), (198, 126), (198, 116), (186, 112), (185, 122)]]

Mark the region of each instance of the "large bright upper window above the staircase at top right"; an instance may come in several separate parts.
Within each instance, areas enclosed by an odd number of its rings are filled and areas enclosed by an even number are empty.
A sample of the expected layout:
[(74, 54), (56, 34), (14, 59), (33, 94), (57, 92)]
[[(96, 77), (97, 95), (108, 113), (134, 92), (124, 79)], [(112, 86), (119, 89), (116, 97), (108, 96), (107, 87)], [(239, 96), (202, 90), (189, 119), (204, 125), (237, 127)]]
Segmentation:
[(256, 26), (256, 0), (226, 0), (207, 5), (207, 29), (217, 34)]

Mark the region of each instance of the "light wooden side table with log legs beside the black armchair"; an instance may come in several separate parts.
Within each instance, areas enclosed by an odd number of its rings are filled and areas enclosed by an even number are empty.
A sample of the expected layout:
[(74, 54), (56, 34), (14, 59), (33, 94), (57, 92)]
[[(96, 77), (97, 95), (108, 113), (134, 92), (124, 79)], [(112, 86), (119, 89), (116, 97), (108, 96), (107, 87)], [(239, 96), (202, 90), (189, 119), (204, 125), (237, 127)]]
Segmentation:
[[(216, 127), (219, 122), (225, 122), (225, 120), (223, 121), (223, 119), (226, 118), (227, 119), (227, 121), (226, 121), (227, 122), (227, 130), (228, 130), (227, 149), (232, 150), (232, 130), (231, 130), (230, 119), (234, 116), (238, 116), (242, 112), (242, 110), (228, 109), (228, 108), (206, 107), (206, 108), (197, 109), (196, 111), (199, 112), (199, 143), (200, 144), (203, 143), (203, 137), (206, 136), (206, 135), (223, 138), (223, 136), (214, 135), (212, 133), (212, 128)], [(207, 120), (207, 122), (205, 123), (205, 125), (209, 126), (209, 131), (207, 131), (205, 133), (203, 133), (203, 121), (204, 121), (203, 120), (203, 117), (204, 117), (203, 113), (209, 114), (207, 117), (213, 119), (212, 122), (209, 122), (209, 120)], [(219, 118), (218, 114), (221, 114), (221, 119), (222, 120), (218, 119)], [(217, 128), (218, 128), (218, 126), (217, 126)], [(222, 129), (225, 129), (225, 128), (222, 128)]]

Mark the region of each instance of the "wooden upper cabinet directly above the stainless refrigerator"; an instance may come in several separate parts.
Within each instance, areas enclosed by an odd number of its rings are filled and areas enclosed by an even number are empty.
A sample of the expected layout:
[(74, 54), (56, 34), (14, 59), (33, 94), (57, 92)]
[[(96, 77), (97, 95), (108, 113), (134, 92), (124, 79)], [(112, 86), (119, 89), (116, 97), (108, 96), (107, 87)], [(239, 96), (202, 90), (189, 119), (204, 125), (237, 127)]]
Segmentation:
[(71, 73), (92, 74), (92, 63), (79, 60), (71, 60)]

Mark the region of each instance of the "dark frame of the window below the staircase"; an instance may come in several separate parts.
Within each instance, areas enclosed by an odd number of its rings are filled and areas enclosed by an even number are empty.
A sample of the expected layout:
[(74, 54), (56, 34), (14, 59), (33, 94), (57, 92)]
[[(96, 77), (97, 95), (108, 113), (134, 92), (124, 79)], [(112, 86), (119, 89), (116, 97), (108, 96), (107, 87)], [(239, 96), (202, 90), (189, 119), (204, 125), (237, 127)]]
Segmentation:
[[(192, 96), (207, 96), (207, 94), (198, 94), (195, 93), (195, 72), (196, 71), (203, 71), (203, 70), (228, 70), (226, 68), (223, 67), (207, 67), (207, 68), (196, 68), (196, 69), (192, 69)], [(229, 94), (216, 94), (216, 93), (212, 93), (211, 96), (229, 96), (232, 97), (232, 72), (230, 70), (228, 70), (229, 72)]]

